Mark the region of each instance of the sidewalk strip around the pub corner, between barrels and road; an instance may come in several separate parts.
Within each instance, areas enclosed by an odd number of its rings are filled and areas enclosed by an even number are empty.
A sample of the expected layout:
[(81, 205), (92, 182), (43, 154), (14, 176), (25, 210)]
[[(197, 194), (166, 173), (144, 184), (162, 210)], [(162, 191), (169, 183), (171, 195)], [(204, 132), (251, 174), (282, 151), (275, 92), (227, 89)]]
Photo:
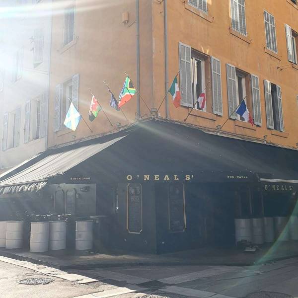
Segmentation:
[(162, 255), (117, 252), (100, 254), (90, 251), (48, 251), (31, 253), (20, 249), (0, 249), (0, 255), (67, 269), (134, 265), (226, 265), (250, 266), (298, 256), (298, 241), (276, 241), (256, 253), (234, 249), (201, 248)]

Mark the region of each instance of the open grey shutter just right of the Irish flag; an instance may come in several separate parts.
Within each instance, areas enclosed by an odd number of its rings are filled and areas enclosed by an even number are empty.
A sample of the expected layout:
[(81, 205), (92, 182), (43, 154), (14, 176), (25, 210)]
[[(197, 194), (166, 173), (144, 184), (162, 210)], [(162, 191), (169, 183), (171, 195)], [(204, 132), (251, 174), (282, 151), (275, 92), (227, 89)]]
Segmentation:
[(181, 105), (192, 107), (191, 48), (179, 43)]

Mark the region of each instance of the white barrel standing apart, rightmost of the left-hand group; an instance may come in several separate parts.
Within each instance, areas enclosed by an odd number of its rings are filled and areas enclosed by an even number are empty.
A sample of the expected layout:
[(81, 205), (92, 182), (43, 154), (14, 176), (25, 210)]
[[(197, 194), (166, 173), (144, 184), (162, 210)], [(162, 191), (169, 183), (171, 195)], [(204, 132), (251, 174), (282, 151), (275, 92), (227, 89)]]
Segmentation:
[(92, 249), (92, 228), (93, 221), (76, 221), (75, 222), (75, 249)]

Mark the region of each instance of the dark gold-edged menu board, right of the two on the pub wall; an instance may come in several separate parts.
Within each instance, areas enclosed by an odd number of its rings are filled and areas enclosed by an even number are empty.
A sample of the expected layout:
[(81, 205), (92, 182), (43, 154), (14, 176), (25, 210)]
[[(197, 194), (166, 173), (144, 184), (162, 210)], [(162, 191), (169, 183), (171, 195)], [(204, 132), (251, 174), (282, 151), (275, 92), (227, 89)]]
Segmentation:
[(169, 229), (172, 232), (183, 232), (186, 222), (184, 185), (182, 183), (169, 184), (168, 200)]

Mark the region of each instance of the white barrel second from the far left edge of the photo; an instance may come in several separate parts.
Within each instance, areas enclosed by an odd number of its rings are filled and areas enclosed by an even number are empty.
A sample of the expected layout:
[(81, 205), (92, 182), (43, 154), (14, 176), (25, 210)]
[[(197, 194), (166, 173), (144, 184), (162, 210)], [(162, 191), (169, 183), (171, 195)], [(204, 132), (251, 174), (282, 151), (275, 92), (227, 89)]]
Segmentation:
[(23, 246), (24, 222), (7, 222), (5, 248), (15, 249)]

